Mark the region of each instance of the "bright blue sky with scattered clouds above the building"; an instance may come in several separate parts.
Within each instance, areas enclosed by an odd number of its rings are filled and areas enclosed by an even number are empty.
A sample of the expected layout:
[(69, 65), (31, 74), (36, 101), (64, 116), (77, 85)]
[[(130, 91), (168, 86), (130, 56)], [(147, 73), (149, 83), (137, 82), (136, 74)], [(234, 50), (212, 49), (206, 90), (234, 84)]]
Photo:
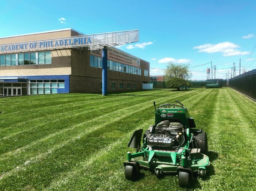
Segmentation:
[[(85, 34), (139, 29), (140, 41), (120, 49), (151, 68), (212, 61), (216, 78), (225, 78), (233, 62), (239, 73), (239, 58), (247, 71), (256, 68), (255, 10), (254, 0), (1, 1), (0, 37), (63, 28)], [(207, 67), (191, 68), (192, 79), (205, 79)], [(150, 74), (162, 74), (159, 69)]]

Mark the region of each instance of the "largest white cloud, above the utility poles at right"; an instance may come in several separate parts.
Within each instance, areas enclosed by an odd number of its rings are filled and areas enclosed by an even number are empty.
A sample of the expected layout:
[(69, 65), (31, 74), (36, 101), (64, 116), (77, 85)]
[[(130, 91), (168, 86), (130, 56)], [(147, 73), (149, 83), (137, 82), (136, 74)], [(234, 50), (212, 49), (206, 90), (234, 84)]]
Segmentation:
[(237, 50), (237, 48), (239, 48), (239, 46), (232, 42), (221, 42), (218, 44), (203, 44), (203, 45), (194, 47), (194, 49), (198, 49), (198, 52), (207, 52), (207, 53), (222, 52), (223, 56), (249, 54), (249, 52), (247, 51), (241, 52), (240, 50)]

